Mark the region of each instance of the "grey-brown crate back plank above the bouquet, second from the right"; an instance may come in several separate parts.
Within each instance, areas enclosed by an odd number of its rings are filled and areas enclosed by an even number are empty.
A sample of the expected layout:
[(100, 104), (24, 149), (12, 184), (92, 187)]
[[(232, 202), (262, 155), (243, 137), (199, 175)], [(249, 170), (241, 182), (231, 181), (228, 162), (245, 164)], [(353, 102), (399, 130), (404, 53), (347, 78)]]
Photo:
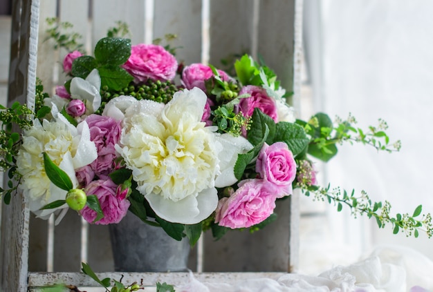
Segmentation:
[(221, 59), (251, 53), (255, 37), (255, 1), (210, 1), (210, 64), (220, 68)]

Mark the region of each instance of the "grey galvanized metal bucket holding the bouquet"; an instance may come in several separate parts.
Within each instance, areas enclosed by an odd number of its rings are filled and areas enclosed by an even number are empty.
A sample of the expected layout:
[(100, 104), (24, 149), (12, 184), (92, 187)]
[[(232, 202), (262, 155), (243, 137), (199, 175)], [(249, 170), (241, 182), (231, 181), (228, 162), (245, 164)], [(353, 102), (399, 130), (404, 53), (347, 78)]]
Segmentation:
[(187, 271), (190, 244), (169, 237), (163, 228), (150, 226), (128, 212), (110, 224), (114, 269), (119, 272)]

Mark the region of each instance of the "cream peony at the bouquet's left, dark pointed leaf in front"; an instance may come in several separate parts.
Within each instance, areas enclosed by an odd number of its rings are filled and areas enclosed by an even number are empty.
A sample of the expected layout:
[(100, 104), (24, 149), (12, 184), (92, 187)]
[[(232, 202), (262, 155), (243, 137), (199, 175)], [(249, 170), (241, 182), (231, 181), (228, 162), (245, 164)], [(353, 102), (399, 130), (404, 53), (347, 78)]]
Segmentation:
[(59, 208), (39, 210), (42, 206), (57, 199), (65, 199), (64, 191), (48, 179), (44, 168), (43, 153), (47, 153), (53, 162), (62, 168), (77, 186), (75, 169), (93, 162), (97, 157), (96, 146), (90, 141), (89, 126), (85, 122), (75, 128), (62, 115), (57, 119), (42, 124), (38, 119), (33, 127), (24, 131), (23, 144), (17, 155), (18, 172), (22, 175), (19, 188), (28, 198), (30, 211), (47, 219)]

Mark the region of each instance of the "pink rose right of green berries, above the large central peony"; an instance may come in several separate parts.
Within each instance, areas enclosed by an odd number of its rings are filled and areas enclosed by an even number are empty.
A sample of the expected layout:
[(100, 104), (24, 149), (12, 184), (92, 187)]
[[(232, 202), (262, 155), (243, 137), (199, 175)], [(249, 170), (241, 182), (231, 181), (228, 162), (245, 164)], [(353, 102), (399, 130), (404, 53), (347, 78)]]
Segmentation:
[[(231, 78), (223, 70), (217, 70), (221, 80), (228, 81)], [(187, 89), (198, 87), (203, 91), (206, 91), (205, 80), (210, 79), (214, 76), (212, 69), (201, 63), (191, 64), (186, 66), (182, 71), (182, 85)]]

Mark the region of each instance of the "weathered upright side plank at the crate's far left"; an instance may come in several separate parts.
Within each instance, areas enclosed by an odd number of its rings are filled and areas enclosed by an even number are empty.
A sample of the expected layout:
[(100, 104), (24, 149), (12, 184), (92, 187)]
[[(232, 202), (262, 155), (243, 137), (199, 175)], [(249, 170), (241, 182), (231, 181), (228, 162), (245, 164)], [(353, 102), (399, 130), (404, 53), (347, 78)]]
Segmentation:
[[(39, 0), (13, 2), (8, 105), (35, 102), (38, 22)], [(29, 211), (24, 197), (12, 196), (1, 215), (0, 289), (26, 291)]]

